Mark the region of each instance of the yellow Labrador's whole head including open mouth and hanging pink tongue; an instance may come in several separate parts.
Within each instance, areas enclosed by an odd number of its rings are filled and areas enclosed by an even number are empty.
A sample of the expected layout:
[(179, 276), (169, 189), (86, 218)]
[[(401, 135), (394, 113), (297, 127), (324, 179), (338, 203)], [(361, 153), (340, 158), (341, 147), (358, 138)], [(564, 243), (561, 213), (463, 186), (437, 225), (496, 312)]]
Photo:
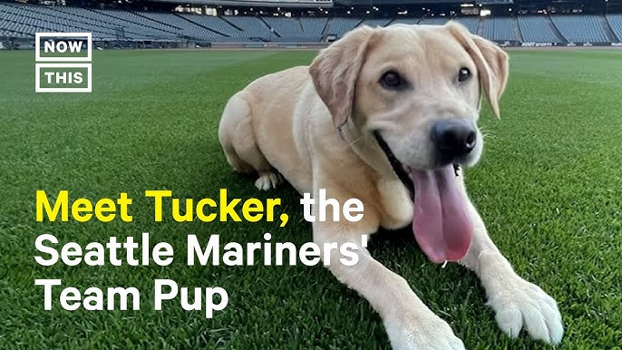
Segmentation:
[(462, 259), (473, 222), (454, 172), (480, 159), (480, 94), (499, 115), (507, 54), (456, 23), (362, 27), (322, 51), (309, 72), (335, 127), (373, 133), (414, 189), (413, 233), (428, 258)]

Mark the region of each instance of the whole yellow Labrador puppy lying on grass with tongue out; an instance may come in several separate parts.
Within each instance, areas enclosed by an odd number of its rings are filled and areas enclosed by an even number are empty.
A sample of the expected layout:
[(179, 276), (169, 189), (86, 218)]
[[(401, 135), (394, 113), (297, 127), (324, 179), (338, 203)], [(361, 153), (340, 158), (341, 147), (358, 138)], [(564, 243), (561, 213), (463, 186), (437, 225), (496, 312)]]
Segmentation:
[[(310, 66), (266, 75), (236, 93), (219, 140), (235, 170), (258, 173), (261, 190), (282, 174), (314, 198), (326, 189), (342, 204), (363, 201), (358, 222), (335, 222), (331, 213), (313, 222), (316, 243), (360, 246), (362, 235), (381, 226), (412, 223), (430, 260), (457, 261), (481, 278), (503, 332), (516, 337), (524, 328), (557, 344), (563, 326), (555, 300), (519, 277), (495, 247), (460, 170), (481, 155), (481, 91), (499, 114), (507, 77), (506, 53), (460, 24), (363, 26)], [(347, 267), (334, 249), (329, 268), (374, 306), (394, 349), (464, 348), (403, 277), (365, 248), (357, 254)]]

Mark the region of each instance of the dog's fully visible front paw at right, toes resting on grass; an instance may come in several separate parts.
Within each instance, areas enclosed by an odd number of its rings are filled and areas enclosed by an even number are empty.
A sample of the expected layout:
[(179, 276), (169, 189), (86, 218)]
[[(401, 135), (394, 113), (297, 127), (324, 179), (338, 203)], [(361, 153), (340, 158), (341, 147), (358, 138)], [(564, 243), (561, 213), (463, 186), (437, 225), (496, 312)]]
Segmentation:
[(501, 330), (510, 337), (519, 335), (523, 327), (534, 339), (559, 344), (564, 326), (557, 303), (540, 287), (517, 277), (504, 285), (487, 305), (496, 313)]

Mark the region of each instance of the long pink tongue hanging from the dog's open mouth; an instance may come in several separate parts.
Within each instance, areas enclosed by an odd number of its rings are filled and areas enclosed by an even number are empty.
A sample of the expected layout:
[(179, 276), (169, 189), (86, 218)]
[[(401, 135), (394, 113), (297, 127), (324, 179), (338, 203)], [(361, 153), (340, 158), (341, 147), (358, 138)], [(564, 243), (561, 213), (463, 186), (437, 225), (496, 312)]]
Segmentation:
[(412, 170), (413, 232), (419, 247), (435, 263), (464, 258), (471, 246), (473, 225), (466, 198), (453, 166)]

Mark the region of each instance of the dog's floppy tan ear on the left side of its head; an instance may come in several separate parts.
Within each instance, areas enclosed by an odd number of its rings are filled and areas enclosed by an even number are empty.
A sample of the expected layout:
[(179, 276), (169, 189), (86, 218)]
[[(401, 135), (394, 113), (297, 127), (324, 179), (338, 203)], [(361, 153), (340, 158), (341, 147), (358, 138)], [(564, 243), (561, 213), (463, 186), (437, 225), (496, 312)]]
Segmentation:
[(333, 116), (335, 128), (352, 112), (355, 85), (374, 29), (361, 26), (322, 50), (309, 66), (317, 94)]

